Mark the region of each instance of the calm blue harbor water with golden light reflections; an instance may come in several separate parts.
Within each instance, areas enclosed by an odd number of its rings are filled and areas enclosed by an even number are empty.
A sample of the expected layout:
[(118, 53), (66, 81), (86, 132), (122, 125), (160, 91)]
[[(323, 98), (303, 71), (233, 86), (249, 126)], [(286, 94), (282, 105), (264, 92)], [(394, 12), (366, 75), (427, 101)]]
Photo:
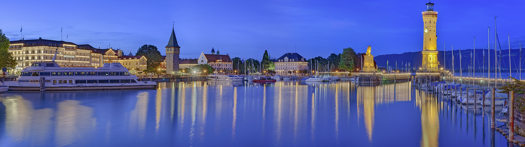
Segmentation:
[(508, 146), (490, 112), (409, 83), (172, 82), (0, 101), (0, 146)]

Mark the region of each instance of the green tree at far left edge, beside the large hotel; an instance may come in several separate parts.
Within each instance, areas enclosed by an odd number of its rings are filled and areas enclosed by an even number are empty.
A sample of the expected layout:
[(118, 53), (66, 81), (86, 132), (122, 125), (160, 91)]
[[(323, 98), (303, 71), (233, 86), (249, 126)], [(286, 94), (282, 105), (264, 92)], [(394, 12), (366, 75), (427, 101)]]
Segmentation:
[(8, 51), (9, 43), (9, 38), (0, 29), (0, 69), (14, 69), (17, 64), (15, 58), (13, 58), (13, 53)]

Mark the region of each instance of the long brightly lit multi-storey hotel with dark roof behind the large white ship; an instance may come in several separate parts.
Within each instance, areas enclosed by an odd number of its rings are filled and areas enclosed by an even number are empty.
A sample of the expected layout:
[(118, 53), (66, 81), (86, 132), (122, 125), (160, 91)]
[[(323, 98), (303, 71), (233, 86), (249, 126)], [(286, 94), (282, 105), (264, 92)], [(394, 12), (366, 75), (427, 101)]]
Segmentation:
[(101, 67), (104, 63), (118, 62), (122, 56), (121, 50), (97, 49), (89, 44), (75, 44), (66, 41), (46, 39), (10, 41), (9, 52), (13, 53), (17, 65), (12, 74), (18, 74), (21, 69), (31, 62), (51, 61), (55, 52), (55, 60), (60, 66), (95, 66)]

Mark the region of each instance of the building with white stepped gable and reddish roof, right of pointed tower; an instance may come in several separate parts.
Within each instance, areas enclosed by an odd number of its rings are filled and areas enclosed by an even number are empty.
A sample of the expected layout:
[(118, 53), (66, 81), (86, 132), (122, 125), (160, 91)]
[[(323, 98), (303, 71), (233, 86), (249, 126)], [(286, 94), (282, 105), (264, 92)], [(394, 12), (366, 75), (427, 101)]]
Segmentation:
[(197, 64), (208, 64), (209, 66), (212, 66), (212, 68), (214, 68), (217, 72), (222, 72), (222, 70), (233, 70), (233, 62), (229, 55), (218, 53), (218, 51), (217, 54), (204, 54), (204, 52), (202, 52)]

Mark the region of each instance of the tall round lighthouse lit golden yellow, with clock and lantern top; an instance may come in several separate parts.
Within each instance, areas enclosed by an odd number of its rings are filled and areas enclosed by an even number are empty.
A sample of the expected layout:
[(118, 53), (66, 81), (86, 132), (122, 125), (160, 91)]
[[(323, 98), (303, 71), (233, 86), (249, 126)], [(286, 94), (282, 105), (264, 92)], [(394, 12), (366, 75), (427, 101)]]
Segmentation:
[(437, 35), (436, 20), (437, 12), (434, 11), (434, 4), (428, 2), (426, 11), (423, 12), (423, 62), (422, 70), (437, 72), (439, 61), (437, 61)]

